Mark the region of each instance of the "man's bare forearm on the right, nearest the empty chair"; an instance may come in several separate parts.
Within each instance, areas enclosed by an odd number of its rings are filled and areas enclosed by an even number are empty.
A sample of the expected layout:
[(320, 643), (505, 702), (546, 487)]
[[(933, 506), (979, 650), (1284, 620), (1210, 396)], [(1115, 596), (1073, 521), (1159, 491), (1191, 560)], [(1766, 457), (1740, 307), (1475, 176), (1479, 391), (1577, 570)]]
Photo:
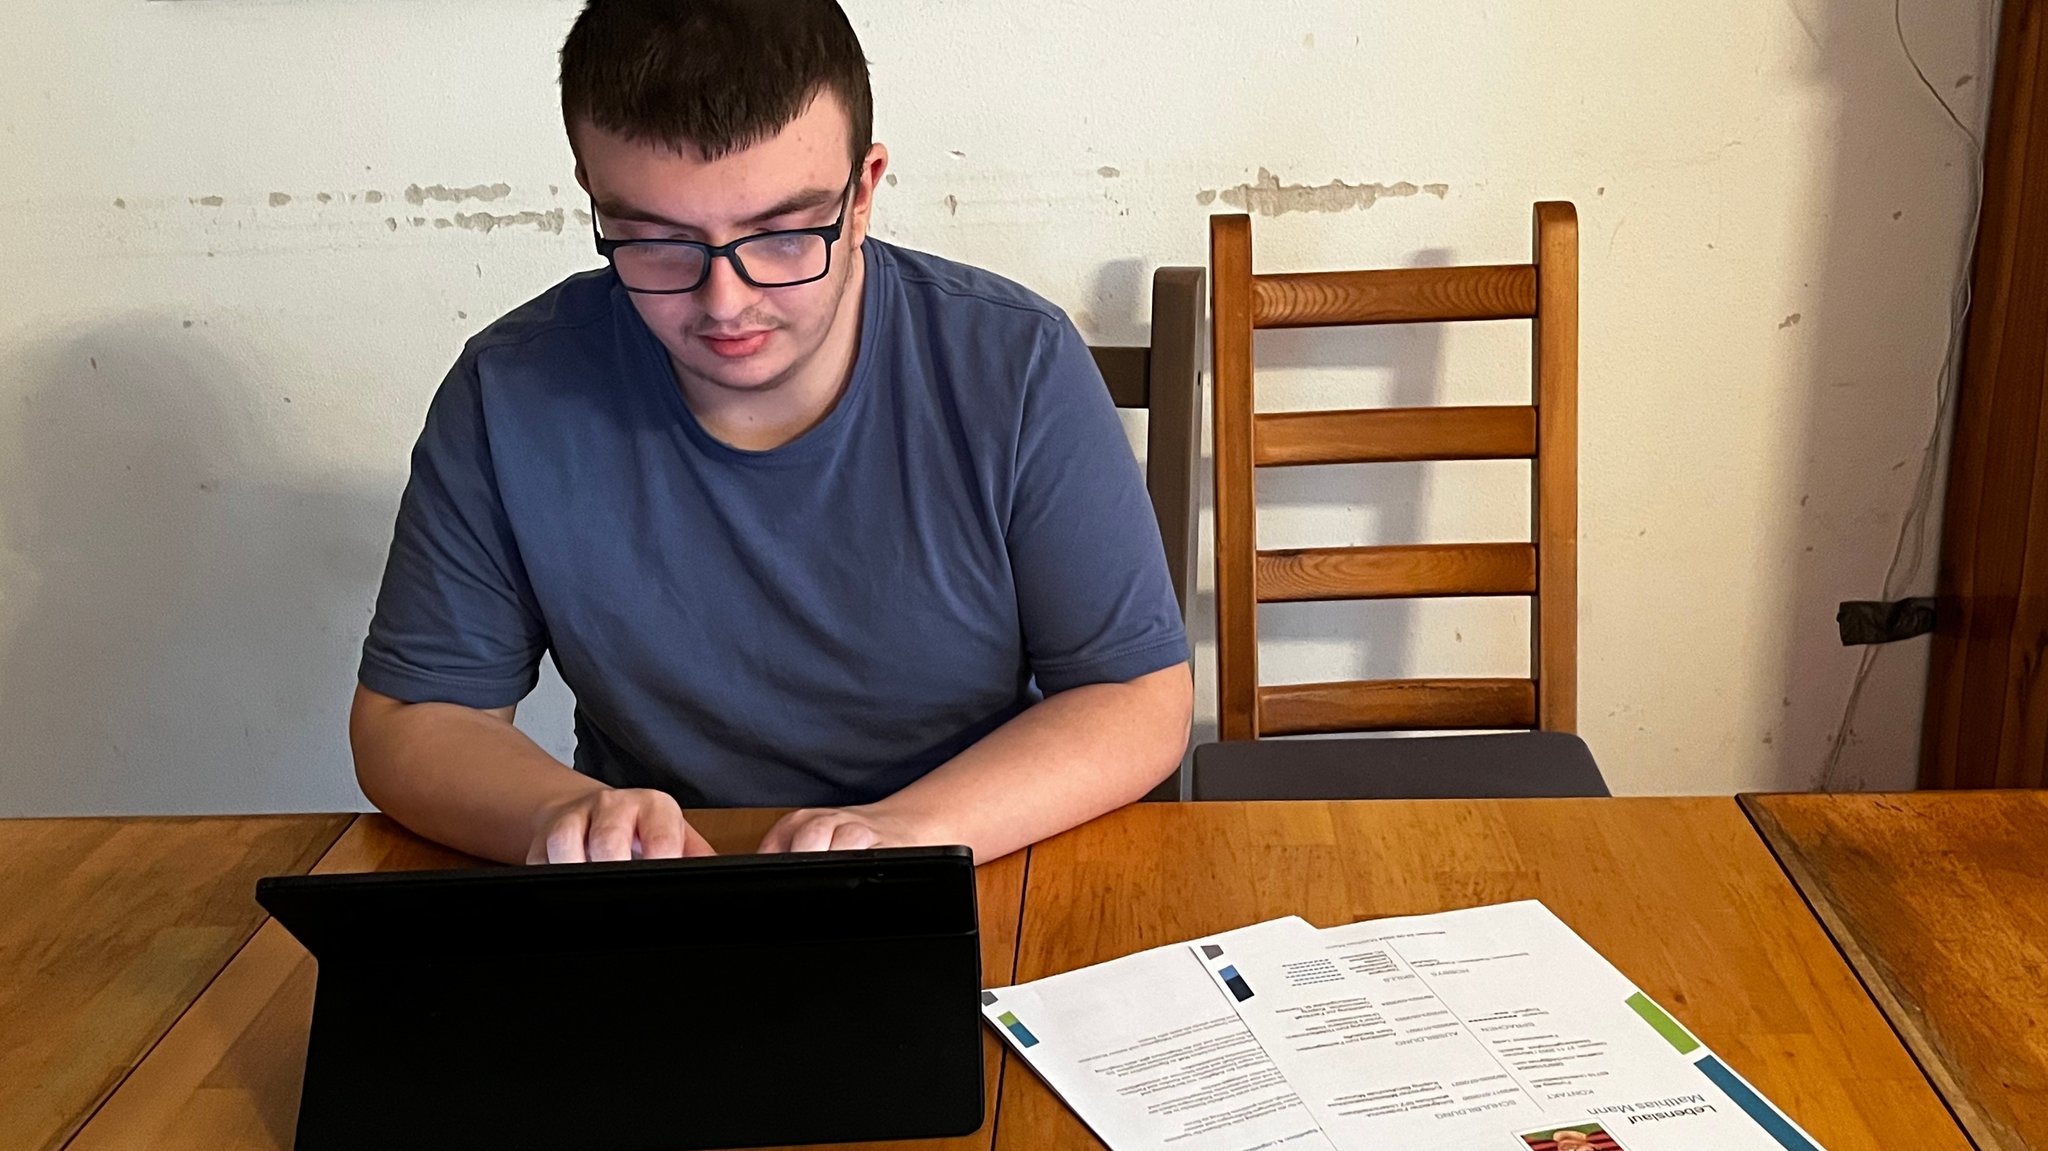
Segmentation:
[(1073, 688), (872, 807), (989, 862), (1143, 797), (1180, 766), (1192, 711), (1188, 664)]

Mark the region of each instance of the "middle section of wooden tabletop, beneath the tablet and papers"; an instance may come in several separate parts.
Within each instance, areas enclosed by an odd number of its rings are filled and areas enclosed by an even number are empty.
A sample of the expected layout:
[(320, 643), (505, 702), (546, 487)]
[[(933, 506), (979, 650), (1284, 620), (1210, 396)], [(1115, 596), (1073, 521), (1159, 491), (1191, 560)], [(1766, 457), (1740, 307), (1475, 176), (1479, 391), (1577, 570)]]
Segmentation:
[[(721, 850), (745, 850), (772, 817), (692, 821)], [(461, 862), (360, 817), (313, 870)], [(1544, 899), (1829, 1151), (1968, 1147), (1733, 799), (1133, 807), (981, 868), (983, 969), (1004, 983), (1284, 913), (1335, 926), (1524, 897)], [(262, 924), (98, 1112), (86, 1108), (68, 1151), (289, 1147), (311, 991), (311, 958)], [(1100, 1147), (993, 1040), (985, 1075), (991, 1122), (915, 1147)]]

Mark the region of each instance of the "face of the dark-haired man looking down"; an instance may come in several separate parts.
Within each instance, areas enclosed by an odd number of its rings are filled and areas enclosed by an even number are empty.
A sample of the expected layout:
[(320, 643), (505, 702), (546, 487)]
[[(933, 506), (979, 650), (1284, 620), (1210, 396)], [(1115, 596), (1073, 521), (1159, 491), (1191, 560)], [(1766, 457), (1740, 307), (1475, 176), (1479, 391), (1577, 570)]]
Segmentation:
[[(846, 209), (831, 272), (815, 283), (760, 289), (713, 260), (692, 293), (633, 293), (641, 319), (676, 371), (700, 385), (770, 391), (799, 379), (836, 324), (856, 324), (846, 289), (866, 238), (874, 182), (889, 156), (868, 150), (848, 197), (848, 117), (821, 92), (772, 139), (705, 160), (637, 143), (594, 125), (571, 129), (578, 182), (590, 193), (608, 240), (698, 240), (729, 244), (760, 231), (821, 227)], [(743, 256), (741, 256), (743, 258)]]

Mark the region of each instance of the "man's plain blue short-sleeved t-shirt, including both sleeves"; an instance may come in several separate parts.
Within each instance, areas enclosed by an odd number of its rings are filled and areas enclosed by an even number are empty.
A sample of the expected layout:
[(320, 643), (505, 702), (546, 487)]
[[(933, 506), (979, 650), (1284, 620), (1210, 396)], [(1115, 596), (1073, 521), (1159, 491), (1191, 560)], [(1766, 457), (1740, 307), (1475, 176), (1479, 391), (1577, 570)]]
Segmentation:
[(682, 401), (608, 270), (475, 336), (426, 416), (360, 680), (506, 707), (686, 805), (887, 797), (1036, 702), (1188, 657), (1094, 358), (995, 274), (866, 240), (860, 352), (797, 440)]

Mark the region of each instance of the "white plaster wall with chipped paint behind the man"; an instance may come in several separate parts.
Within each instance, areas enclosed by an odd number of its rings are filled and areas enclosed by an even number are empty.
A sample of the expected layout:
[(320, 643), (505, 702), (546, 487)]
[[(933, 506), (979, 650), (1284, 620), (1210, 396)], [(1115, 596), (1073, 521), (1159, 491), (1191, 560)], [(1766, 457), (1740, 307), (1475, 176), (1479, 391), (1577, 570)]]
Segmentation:
[[(1907, 14), (1972, 125), (1978, 2)], [(1530, 203), (1577, 201), (1581, 729), (1618, 791), (1817, 778), (1855, 662), (1833, 606), (1890, 557), (1968, 207), (1890, 4), (850, 8), (899, 178), (879, 231), (1092, 338), (1143, 340), (1151, 268), (1204, 262), (1217, 193), (1262, 170), (1417, 186), (1278, 197), (1325, 211), (1255, 221), (1270, 270), (1526, 260)], [(360, 805), (344, 707), (428, 395), (469, 332), (594, 262), (555, 117), (573, 10), (8, 4), (0, 815)], [(1274, 334), (1260, 363), (1268, 408), (1516, 401), (1528, 338)], [(1511, 539), (1524, 479), (1276, 475), (1262, 539)], [(1518, 674), (1524, 621), (1270, 608), (1266, 674)], [(1913, 778), (1923, 674), (1925, 641), (1878, 662), (1849, 782)], [(567, 752), (559, 684), (522, 719)]]

